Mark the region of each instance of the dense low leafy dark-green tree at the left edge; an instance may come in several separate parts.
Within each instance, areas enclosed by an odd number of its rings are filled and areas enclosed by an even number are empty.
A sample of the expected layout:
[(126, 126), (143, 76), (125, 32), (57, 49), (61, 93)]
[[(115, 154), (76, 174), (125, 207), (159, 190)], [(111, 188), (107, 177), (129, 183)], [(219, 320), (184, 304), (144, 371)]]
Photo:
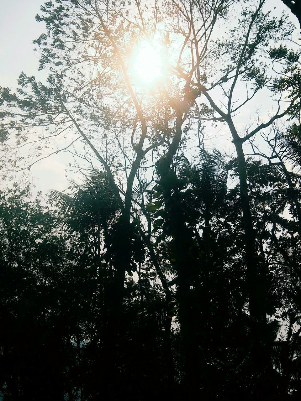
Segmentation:
[(77, 387), (70, 339), (83, 272), (56, 230), (55, 213), (26, 196), (19, 188), (0, 194), (0, 391), (6, 400), (64, 399)]

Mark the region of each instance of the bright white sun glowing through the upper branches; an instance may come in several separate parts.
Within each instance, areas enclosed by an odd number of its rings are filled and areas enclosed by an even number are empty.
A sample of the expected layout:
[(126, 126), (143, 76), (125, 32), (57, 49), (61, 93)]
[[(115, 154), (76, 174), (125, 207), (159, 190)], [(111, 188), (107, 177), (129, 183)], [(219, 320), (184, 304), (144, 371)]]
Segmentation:
[(148, 40), (138, 43), (131, 57), (130, 73), (133, 81), (146, 86), (158, 83), (165, 75), (164, 59), (162, 46)]

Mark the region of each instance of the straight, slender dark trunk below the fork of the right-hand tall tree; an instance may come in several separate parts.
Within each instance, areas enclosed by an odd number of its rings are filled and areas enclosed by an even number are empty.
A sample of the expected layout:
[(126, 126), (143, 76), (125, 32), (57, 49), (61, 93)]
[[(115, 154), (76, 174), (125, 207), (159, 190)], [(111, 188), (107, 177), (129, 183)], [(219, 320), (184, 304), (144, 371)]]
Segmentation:
[[(233, 134), (232, 134), (233, 135)], [(236, 134), (237, 135), (237, 134)], [(248, 195), (246, 161), (242, 150), (242, 140), (234, 137), (234, 145), (238, 160), (240, 184), (240, 203), (244, 226), (244, 245), (246, 262), (246, 284), (250, 313), (250, 369), (252, 375), (251, 388), (255, 400), (264, 400), (271, 391), (268, 379), (273, 366), (268, 351), (268, 330), (266, 325), (266, 269), (256, 249), (256, 238), (253, 228), (252, 212)], [(253, 379), (254, 378), (254, 379)], [(271, 393), (270, 393), (271, 394)]]

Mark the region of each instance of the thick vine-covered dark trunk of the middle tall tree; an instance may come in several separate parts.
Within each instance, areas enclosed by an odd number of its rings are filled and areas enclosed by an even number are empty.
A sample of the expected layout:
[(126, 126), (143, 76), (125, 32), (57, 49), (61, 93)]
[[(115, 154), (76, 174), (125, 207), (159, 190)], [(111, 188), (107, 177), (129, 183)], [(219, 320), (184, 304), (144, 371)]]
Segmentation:
[(185, 216), (181, 210), (181, 200), (177, 188), (172, 188), (171, 180), (175, 180), (175, 172), (171, 170), (182, 135), (181, 110), (177, 111), (176, 131), (173, 142), (165, 156), (157, 163), (157, 173), (161, 177), (160, 184), (163, 191), (165, 210), (168, 214), (168, 235), (173, 238), (170, 260), (177, 273), (177, 302), (179, 306), (179, 321), (181, 325), (182, 349), (184, 355), (184, 378), (181, 382), (181, 394), (185, 398), (197, 397), (200, 387), (199, 377), (199, 344), (196, 332), (196, 322), (191, 297), (191, 271), (195, 260), (193, 257), (193, 232), (185, 223)]

